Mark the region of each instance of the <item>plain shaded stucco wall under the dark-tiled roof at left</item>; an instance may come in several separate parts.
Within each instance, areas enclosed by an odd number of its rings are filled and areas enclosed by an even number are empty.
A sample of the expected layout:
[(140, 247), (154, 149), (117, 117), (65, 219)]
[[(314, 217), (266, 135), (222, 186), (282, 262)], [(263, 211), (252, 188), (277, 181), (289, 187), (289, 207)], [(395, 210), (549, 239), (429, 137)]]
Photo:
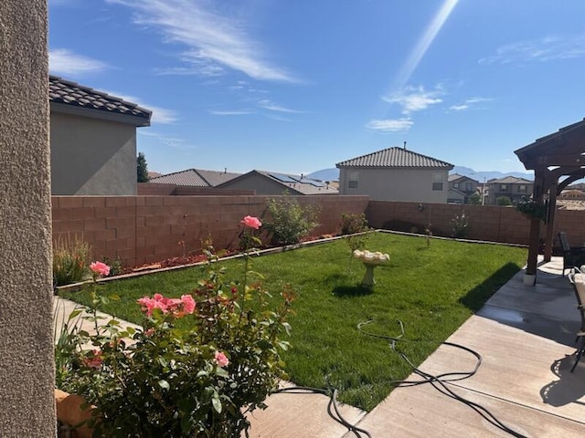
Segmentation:
[(53, 194), (136, 194), (136, 128), (51, 110)]

